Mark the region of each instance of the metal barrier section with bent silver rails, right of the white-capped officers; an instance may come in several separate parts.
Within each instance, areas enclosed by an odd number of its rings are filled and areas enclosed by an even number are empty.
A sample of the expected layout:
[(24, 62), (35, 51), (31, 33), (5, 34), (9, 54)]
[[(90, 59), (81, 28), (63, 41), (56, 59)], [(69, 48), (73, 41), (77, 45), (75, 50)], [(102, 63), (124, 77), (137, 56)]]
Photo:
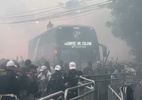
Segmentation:
[(94, 100), (94, 81), (80, 76), (80, 82), (78, 86), (71, 87), (65, 90), (64, 100), (68, 100), (68, 94), (72, 90), (78, 90), (78, 96), (71, 98), (70, 100)]

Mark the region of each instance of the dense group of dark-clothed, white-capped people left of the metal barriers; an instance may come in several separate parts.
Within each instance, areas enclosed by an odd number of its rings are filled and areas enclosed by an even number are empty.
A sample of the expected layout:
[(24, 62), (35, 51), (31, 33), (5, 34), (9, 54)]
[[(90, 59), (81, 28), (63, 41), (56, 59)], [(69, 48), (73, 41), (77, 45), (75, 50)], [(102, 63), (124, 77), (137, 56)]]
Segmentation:
[[(39, 67), (32, 64), (29, 59), (24, 64), (7, 59), (1, 60), (0, 94), (3, 95), (2, 100), (15, 100), (14, 97), (5, 94), (14, 94), (19, 100), (35, 100), (77, 86), (78, 78), (83, 73), (77, 70), (75, 62), (69, 63), (67, 71), (63, 65), (63, 61), (55, 67), (51, 67), (49, 62), (45, 61)], [(68, 99), (75, 96), (77, 96), (77, 90), (72, 91)]]

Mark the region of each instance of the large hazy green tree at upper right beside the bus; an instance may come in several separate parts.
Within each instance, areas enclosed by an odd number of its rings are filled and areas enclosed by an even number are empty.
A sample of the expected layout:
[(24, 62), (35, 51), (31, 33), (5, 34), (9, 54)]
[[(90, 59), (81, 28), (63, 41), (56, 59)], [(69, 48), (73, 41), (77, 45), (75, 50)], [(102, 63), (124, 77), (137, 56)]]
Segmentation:
[[(110, 0), (112, 19), (107, 22), (113, 35), (132, 47), (136, 61), (142, 61), (142, 0)], [(121, 49), (121, 48), (120, 48)]]

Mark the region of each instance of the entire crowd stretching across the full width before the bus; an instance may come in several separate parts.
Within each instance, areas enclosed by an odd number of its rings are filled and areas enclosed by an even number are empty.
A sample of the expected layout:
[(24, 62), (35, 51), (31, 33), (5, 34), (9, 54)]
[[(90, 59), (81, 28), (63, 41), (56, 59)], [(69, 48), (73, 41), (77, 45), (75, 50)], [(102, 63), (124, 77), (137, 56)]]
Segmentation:
[[(140, 66), (140, 65), (139, 65)], [(134, 72), (141, 74), (141, 67), (97, 62), (96, 66), (88, 62), (81, 71), (77, 70), (75, 62), (69, 64), (60, 61), (52, 67), (48, 61), (35, 65), (27, 59), (23, 62), (16, 60), (0, 60), (0, 94), (14, 94), (20, 100), (35, 100), (49, 94), (64, 91), (69, 87), (77, 86), (80, 75), (117, 74), (111, 78), (119, 78), (119, 74)], [(77, 96), (77, 90), (72, 91), (68, 99)], [(57, 97), (53, 98), (57, 99)], [(15, 100), (9, 96), (3, 96), (2, 100)]]

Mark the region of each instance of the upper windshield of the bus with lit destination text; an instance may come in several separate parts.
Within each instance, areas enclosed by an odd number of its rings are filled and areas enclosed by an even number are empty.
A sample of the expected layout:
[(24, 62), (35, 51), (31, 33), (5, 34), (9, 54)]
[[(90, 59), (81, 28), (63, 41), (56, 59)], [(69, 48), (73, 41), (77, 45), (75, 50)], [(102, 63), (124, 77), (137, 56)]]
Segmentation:
[(90, 27), (60, 27), (57, 33), (61, 49), (88, 49), (98, 43), (95, 30)]

